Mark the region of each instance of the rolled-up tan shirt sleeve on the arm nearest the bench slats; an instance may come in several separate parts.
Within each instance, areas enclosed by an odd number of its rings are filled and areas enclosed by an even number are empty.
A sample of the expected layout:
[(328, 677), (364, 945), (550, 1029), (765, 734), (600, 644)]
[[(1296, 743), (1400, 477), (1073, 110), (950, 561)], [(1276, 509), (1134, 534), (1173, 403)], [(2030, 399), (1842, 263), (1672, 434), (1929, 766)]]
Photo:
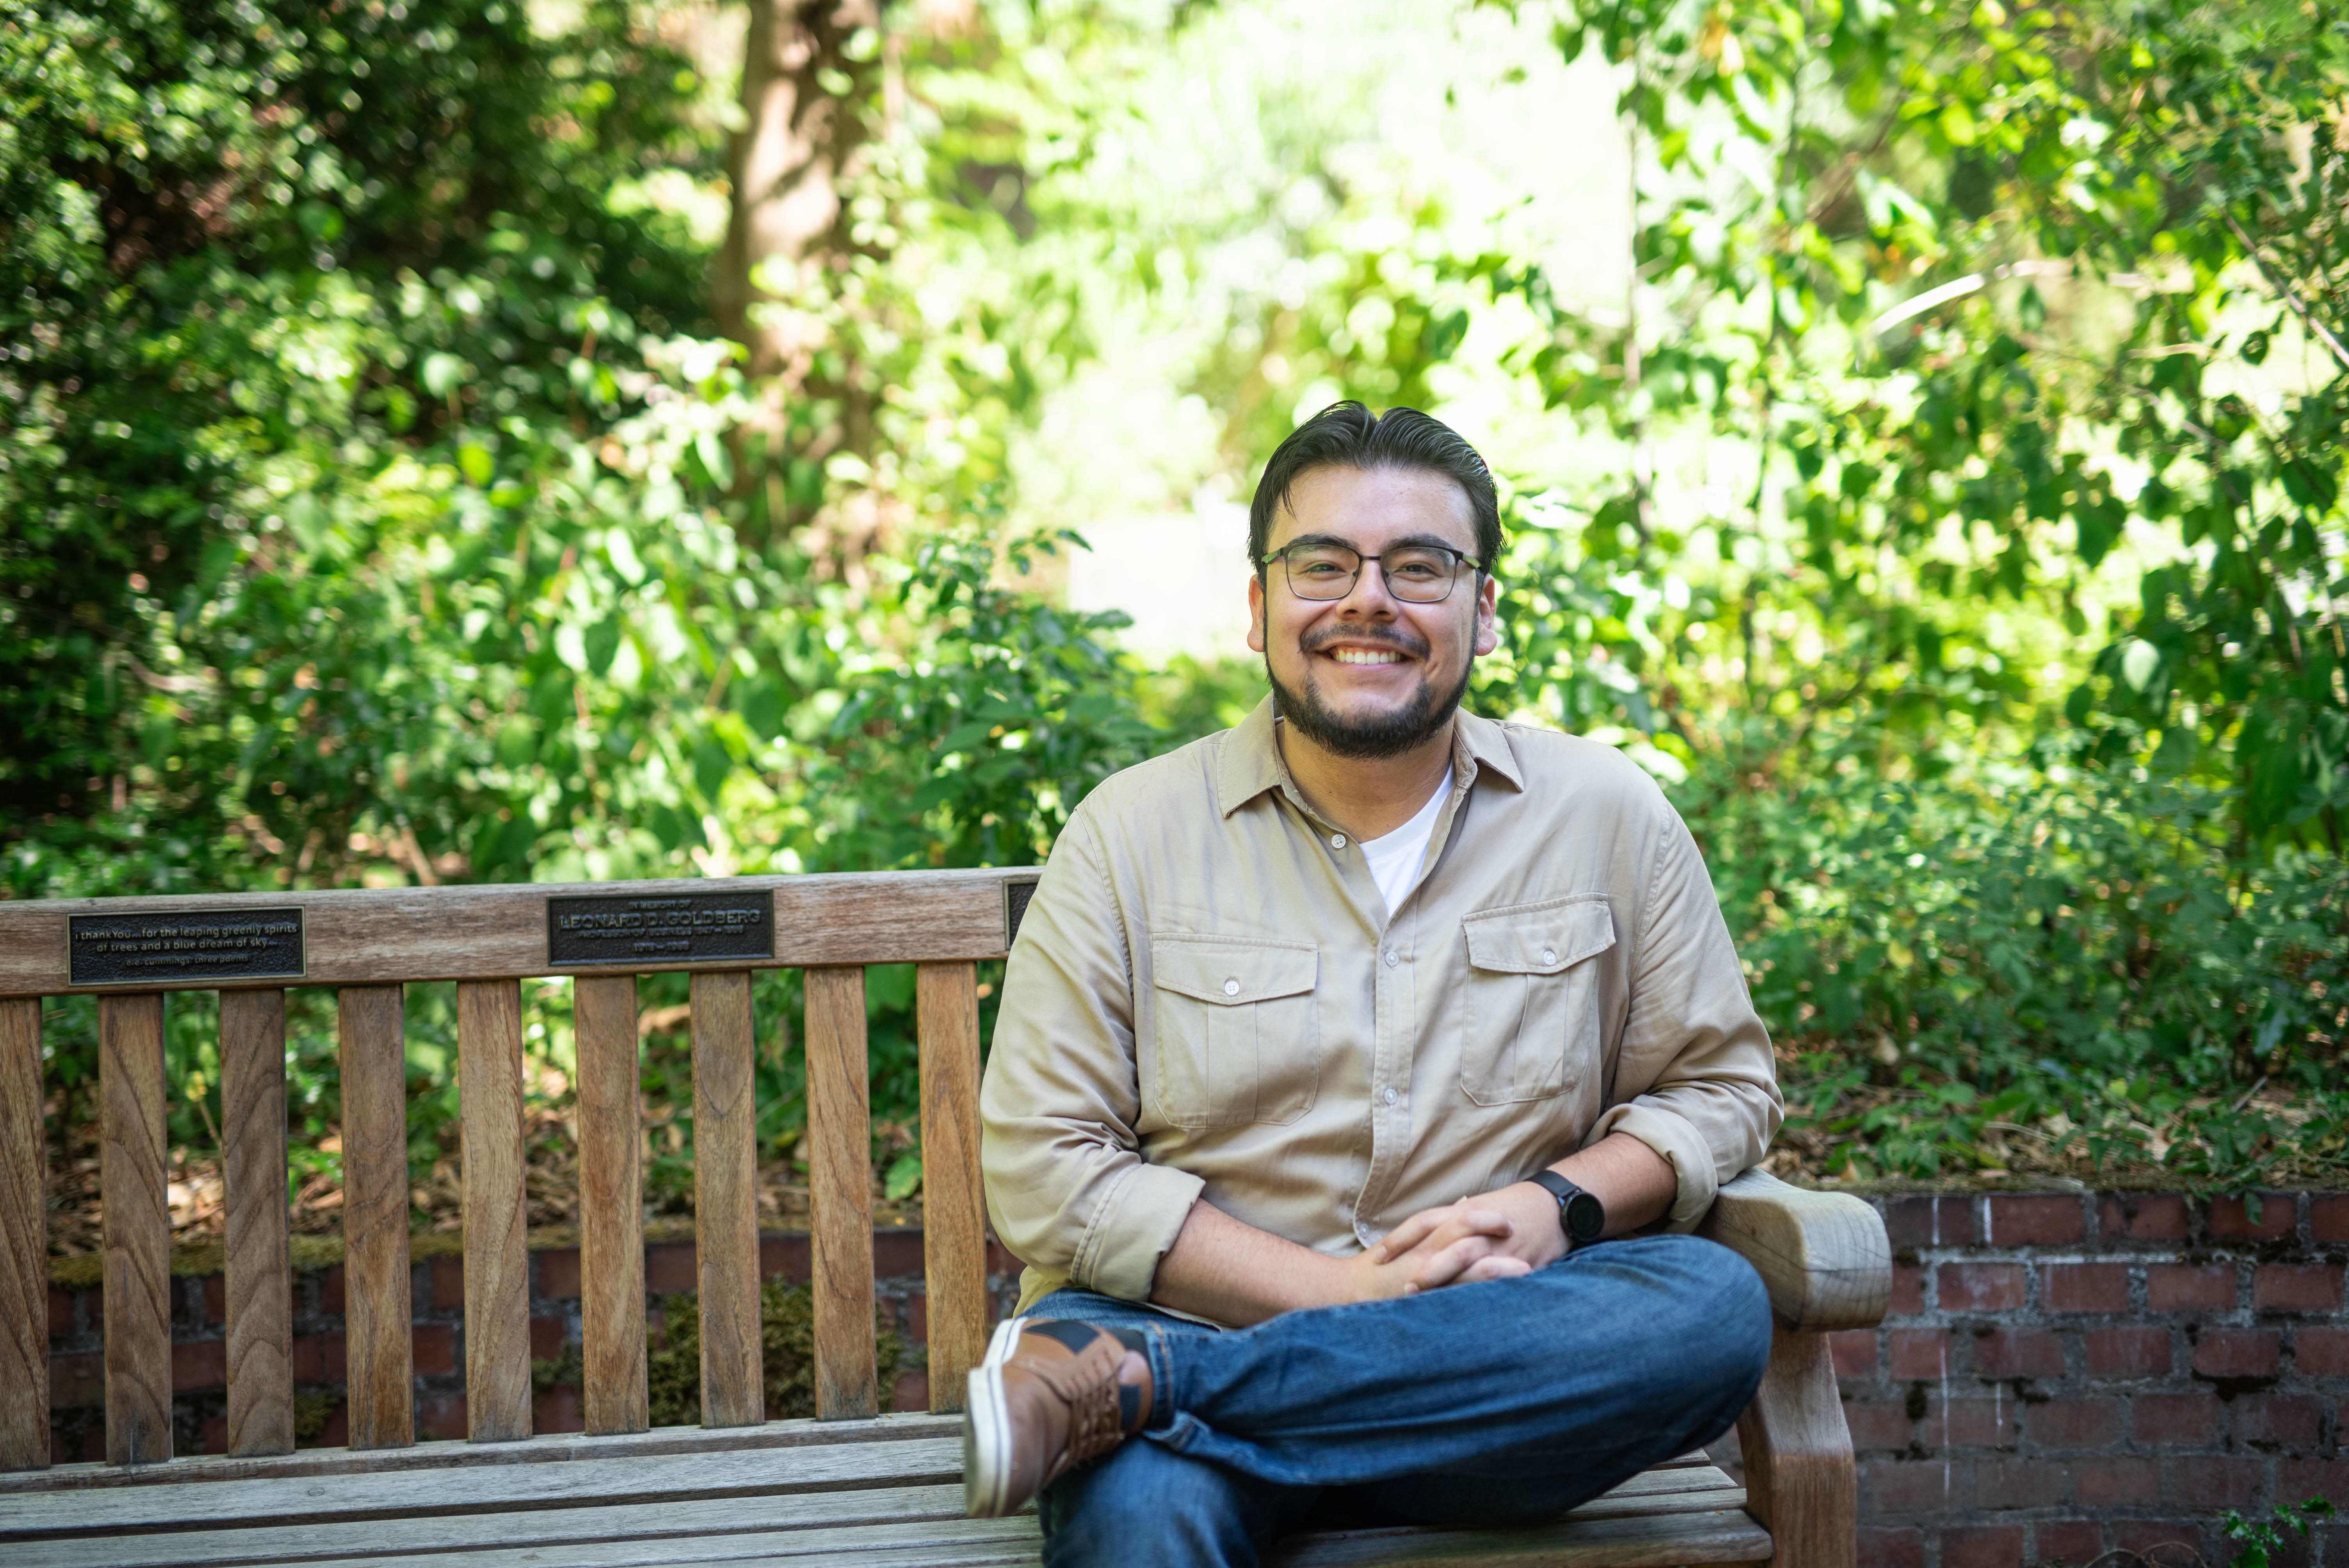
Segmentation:
[(1142, 1157), (1139, 1113), (1125, 922), (1078, 810), (1019, 920), (980, 1087), (987, 1214), (1012, 1256), (1149, 1298), (1203, 1181)]

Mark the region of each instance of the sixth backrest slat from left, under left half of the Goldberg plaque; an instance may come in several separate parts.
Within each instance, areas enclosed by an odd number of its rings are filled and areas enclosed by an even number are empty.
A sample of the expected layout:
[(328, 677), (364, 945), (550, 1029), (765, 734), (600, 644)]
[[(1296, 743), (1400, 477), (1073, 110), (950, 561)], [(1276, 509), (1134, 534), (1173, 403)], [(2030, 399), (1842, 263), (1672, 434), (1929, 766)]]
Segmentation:
[(637, 976), (571, 986), (580, 1066), (580, 1359), (590, 1432), (644, 1432), (644, 1129)]

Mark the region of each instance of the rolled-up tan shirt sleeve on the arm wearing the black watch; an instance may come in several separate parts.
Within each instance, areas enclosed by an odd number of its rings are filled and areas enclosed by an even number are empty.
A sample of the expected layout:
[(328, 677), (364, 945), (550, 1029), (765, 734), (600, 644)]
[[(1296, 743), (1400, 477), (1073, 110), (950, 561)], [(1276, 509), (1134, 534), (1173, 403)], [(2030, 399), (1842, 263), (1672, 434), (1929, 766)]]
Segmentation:
[(1623, 1131), (1672, 1164), (1670, 1228), (1691, 1230), (1719, 1183), (1762, 1160), (1785, 1120), (1776, 1059), (1687, 824), (1658, 796), (1614, 1101), (1586, 1145)]

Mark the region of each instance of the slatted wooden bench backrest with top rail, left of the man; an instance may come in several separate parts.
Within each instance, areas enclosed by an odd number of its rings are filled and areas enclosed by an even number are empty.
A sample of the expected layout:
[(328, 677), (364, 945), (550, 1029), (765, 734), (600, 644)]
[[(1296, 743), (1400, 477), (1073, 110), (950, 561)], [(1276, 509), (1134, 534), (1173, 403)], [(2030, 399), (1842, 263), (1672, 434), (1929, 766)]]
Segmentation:
[[(204, 986), (221, 995), (228, 1441), (235, 1455), (275, 1455), (289, 1453), (296, 1441), (284, 1204), (289, 984), (338, 988), (348, 1444), (406, 1448), (416, 1441), (404, 986), (451, 979), (458, 981), (465, 1169), (467, 1427), (472, 1441), (531, 1434), (519, 979), (564, 972), (552, 962), (550, 932), (554, 915), (576, 906), (552, 906), (550, 897), (597, 897), (604, 908), (639, 908), (639, 899), (674, 894), (773, 897), (768, 958), (695, 962), (667, 946), (637, 946), (648, 960), (646, 972), (658, 965), (693, 976), (705, 1427), (766, 1420), (752, 1016), (752, 969), (763, 967), (806, 969), (803, 1148), (817, 1415), (843, 1420), (881, 1408), (864, 967), (916, 965), (930, 1408), (961, 1408), (963, 1378), (987, 1347), (975, 960), (1008, 951), (1017, 908), (1012, 887), (1034, 880), (1034, 871), (904, 871), (0, 901), (0, 1469), (49, 1462), (40, 1000), (78, 991), (99, 995), (106, 1451), (122, 1465), (171, 1458), (164, 991), (75, 986), (70, 915), (301, 908), (296, 960), (287, 969), (298, 979), (235, 979), (233, 965), (221, 976), (216, 955), (233, 944), (190, 946), (218, 925), (193, 922), (193, 939), (190, 922), (169, 930), (174, 922), (162, 920), (162, 930), (141, 932), (141, 939), (160, 944), (146, 953), (169, 953), (162, 965), (195, 965), (179, 988)], [(108, 925), (85, 937), (106, 941), (120, 930)], [(691, 948), (684, 941), (674, 946)], [(587, 1430), (597, 1434), (644, 1432), (651, 1415), (637, 979), (573, 969), (583, 1404)]]

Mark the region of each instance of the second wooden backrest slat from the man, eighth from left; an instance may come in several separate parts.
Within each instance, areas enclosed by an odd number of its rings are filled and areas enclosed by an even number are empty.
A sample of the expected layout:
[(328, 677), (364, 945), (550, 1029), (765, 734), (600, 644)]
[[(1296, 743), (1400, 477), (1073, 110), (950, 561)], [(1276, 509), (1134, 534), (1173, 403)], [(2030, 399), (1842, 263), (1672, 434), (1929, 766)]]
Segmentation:
[(879, 1408), (864, 969), (808, 969), (808, 1256), (815, 1415)]

